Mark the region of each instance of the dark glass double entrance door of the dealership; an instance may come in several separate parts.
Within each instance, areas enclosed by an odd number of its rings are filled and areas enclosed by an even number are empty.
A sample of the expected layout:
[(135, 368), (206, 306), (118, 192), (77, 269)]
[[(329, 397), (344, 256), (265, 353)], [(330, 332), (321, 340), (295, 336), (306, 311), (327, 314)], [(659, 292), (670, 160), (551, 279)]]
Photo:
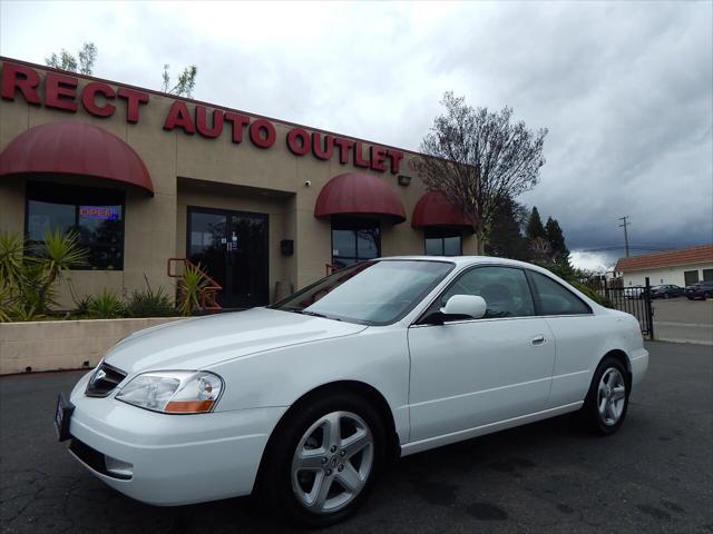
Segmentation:
[(224, 308), (270, 300), (267, 215), (188, 208), (186, 256), (223, 286)]

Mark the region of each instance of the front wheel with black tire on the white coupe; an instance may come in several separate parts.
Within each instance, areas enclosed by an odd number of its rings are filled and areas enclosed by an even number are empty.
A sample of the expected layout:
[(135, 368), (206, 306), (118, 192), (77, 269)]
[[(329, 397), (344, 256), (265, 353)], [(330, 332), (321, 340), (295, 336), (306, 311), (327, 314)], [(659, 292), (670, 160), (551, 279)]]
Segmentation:
[(295, 408), (265, 449), (260, 493), (271, 513), (321, 528), (344, 521), (367, 500), (385, 458), (384, 425), (369, 402), (352, 394)]

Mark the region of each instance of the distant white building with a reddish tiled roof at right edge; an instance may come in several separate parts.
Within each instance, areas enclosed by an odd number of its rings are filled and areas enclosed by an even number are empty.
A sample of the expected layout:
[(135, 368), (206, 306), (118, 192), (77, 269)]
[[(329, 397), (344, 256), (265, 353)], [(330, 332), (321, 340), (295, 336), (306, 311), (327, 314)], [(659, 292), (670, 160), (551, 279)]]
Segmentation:
[(614, 270), (624, 278), (624, 287), (644, 285), (646, 277), (652, 286), (713, 280), (713, 245), (619, 258)]

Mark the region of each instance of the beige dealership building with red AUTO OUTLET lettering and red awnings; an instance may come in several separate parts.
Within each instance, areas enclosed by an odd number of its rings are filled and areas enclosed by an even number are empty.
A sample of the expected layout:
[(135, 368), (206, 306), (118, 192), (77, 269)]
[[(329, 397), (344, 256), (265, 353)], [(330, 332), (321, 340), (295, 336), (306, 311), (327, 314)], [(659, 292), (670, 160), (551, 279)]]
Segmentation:
[[(476, 254), (417, 152), (0, 58), (0, 231), (77, 231), (79, 295), (173, 287), (169, 258), (268, 304), (335, 267)], [(71, 306), (65, 283), (60, 304)]]

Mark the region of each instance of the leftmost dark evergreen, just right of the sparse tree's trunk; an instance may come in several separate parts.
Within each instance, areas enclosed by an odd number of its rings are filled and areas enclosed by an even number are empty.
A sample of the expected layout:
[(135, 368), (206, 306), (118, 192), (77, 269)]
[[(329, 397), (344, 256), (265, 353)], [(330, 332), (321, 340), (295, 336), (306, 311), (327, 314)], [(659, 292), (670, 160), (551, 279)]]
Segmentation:
[(528, 259), (527, 241), (520, 231), (525, 218), (525, 206), (510, 197), (500, 199), (488, 225), (486, 254), (500, 258)]

